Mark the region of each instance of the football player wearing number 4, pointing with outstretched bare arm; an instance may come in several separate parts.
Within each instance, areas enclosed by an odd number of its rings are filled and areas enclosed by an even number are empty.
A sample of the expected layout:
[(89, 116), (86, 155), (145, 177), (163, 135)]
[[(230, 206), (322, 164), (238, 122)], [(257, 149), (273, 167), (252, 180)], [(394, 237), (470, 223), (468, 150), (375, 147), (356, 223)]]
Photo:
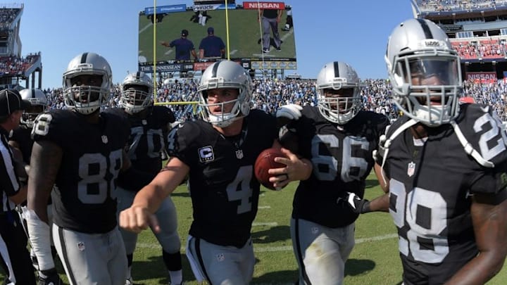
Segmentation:
[(250, 77), (233, 61), (206, 68), (198, 91), (204, 120), (171, 130), (168, 164), (120, 213), (120, 226), (158, 229), (154, 213), (188, 174), (194, 220), (187, 258), (197, 281), (249, 284), (255, 263), (250, 231), (260, 191), (253, 164), (265, 148), (280, 146), (275, 118), (250, 110)]

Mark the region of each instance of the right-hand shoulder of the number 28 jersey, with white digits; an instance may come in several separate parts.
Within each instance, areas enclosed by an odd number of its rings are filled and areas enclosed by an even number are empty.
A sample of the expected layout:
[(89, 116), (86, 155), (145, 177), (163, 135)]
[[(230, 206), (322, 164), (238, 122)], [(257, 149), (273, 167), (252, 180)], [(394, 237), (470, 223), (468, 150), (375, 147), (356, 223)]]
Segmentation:
[(492, 107), (463, 104), (460, 108), (456, 124), (468, 144), (494, 165), (506, 163), (507, 132)]

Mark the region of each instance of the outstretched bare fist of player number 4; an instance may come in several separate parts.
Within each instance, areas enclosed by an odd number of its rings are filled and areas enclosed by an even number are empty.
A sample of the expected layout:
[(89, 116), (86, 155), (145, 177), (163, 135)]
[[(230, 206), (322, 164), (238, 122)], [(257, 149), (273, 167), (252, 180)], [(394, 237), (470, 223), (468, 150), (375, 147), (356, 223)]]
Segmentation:
[(140, 206), (132, 205), (132, 207), (121, 211), (118, 220), (120, 227), (137, 234), (148, 227), (157, 233), (161, 230), (156, 216), (150, 213), (147, 208)]

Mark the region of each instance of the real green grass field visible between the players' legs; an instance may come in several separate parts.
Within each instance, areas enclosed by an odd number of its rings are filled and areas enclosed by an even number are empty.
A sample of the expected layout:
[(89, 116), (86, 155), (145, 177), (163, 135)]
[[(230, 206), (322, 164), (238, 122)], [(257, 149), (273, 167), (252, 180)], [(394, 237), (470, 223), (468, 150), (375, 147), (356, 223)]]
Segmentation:
[[(294, 284), (297, 279), (296, 260), (289, 234), (295, 187), (296, 184), (292, 183), (282, 191), (261, 190), (258, 215), (252, 228), (257, 262), (251, 284)], [(370, 175), (366, 198), (371, 199), (380, 194), (382, 191), (375, 175)], [(173, 193), (173, 200), (177, 207), (180, 239), (184, 247), (192, 222), (192, 204), (186, 186), (180, 186)], [(184, 255), (183, 271), (184, 280), (191, 285), (198, 284)], [(359, 217), (356, 222), (356, 247), (346, 262), (345, 272), (345, 284), (400, 284), (401, 262), (396, 229), (388, 213), (368, 213)], [(161, 258), (161, 247), (149, 231), (139, 235), (132, 276), (136, 284), (155, 285), (168, 282)], [(504, 265), (503, 270), (488, 284), (506, 283), (507, 265)]]

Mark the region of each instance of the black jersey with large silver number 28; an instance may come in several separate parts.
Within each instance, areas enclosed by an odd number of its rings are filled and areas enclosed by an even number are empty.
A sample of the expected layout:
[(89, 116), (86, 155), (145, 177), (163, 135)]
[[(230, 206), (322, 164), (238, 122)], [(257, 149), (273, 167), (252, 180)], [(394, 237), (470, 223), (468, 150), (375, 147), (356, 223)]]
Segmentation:
[[(389, 137), (408, 118), (389, 129)], [(427, 128), (425, 141), (410, 129), (395, 137), (387, 154), (389, 212), (398, 228), (403, 278), (410, 284), (443, 284), (477, 255), (470, 195), (505, 191), (507, 134), (489, 107), (461, 106), (461, 132), (495, 167), (465, 153), (450, 124)]]

